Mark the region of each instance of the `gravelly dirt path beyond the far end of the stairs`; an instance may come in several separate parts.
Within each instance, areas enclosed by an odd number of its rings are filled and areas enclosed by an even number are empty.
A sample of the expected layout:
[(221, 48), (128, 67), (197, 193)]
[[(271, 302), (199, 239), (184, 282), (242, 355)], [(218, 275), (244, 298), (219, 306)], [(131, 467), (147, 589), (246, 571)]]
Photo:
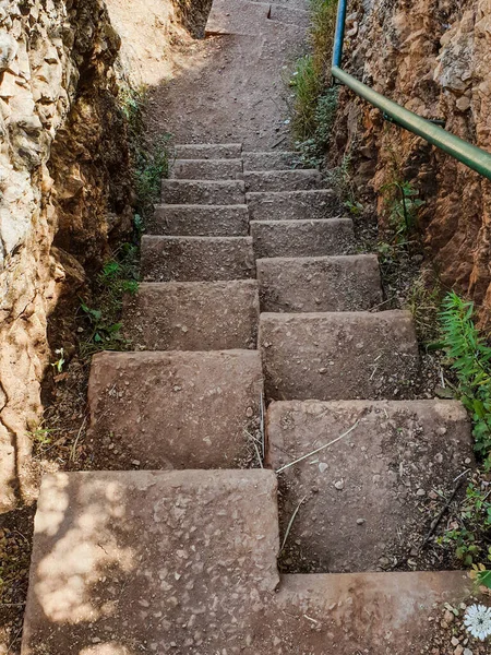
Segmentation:
[[(268, 23), (274, 23), (268, 21)], [(176, 142), (242, 142), (244, 150), (291, 146), (288, 85), (301, 52), (299, 31), (285, 24), (258, 36), (209, 36), (168, 83), (151, 90), (151, 133)]]

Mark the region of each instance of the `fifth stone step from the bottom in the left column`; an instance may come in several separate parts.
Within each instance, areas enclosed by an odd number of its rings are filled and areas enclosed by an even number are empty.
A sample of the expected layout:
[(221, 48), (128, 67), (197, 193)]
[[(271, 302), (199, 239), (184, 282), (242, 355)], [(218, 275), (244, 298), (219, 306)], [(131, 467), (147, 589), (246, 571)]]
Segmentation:
[(247, 205), (157, 205), (147, 231), (182, 237), (240, 237), (249, 234)]

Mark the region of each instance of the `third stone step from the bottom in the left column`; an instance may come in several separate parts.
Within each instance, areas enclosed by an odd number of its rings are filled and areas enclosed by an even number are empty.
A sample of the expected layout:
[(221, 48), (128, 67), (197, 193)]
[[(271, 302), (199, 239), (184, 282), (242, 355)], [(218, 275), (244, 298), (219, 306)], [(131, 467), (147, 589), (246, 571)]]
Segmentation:
[(125, 297), (123, 317), (134, 350), (255, 348), (258, 283), (143, 283)]

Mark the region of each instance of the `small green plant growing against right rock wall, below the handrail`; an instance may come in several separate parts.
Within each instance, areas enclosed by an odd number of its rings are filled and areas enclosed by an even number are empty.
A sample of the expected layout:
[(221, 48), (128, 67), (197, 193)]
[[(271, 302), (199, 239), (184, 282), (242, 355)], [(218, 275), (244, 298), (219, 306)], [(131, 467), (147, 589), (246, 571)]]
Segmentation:
[(424, 201), (419, 191), (408, 181), (393, 181), (381, 188), (386, 193), (385, 204), (388, 211), (390, 226), (395, 240), (406, 239), (418, 227), (419, 209)]

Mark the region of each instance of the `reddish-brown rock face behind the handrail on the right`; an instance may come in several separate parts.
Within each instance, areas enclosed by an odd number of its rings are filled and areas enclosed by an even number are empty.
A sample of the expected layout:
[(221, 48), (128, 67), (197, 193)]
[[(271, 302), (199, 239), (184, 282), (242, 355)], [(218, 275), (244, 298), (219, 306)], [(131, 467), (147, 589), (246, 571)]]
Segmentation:
[[(350, 11), (346, 62), (352, 74), (491, 151), (491, 0), (355, 0)], [(469, 294), (489, 322), (490, 182), (384, 122), (347, 90), (335, 133), (333, 154), (352, 153), (358, 186), (376, 192), (399, 176), (420, 190), (424, 245), (443, 283)]]

